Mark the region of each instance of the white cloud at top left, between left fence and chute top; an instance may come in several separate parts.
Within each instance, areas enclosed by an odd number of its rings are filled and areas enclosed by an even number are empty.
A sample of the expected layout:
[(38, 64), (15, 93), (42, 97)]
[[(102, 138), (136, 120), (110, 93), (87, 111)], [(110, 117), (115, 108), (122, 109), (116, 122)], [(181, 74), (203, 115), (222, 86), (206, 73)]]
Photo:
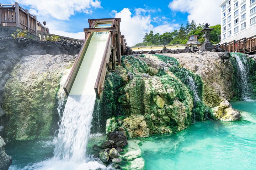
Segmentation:
[(99, 0), (18, 0), (29, 6), (30, 13), (46, 18), (68, 20), (75, 12), (92, 13), (92, 8), (101, 8)]

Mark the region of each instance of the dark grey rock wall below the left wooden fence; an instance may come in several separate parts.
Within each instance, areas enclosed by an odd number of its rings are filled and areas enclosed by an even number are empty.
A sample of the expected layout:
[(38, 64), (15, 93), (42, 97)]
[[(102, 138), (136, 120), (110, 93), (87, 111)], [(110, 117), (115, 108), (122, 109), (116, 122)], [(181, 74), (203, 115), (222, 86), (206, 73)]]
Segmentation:
[(30, 55), (77, 55), (80, 44), (67, 41), (50, 42), (31, 39), (13, 39), (0, 37), (0, 136), (4, 135), (6, 123), (5, 111), (2, 109), (4, 86), (10, 78), (9, 73), (23, 56)]

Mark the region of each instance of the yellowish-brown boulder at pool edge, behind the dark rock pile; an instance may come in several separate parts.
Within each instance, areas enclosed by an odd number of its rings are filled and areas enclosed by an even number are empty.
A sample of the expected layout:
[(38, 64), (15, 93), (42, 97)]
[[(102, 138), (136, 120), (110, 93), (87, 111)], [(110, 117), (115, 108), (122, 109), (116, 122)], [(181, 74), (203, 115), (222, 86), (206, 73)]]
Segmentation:
[(123, 127), (128, 131), (129, 137), (149, 136), (149, 129), (143, 115), (130, 115), (123, 120)]

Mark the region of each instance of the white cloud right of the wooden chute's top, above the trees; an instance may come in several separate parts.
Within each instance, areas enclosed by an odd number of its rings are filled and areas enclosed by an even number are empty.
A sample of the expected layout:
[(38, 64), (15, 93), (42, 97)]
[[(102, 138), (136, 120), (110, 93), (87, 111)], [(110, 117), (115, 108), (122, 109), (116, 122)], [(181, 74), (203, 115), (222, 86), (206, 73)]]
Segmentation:
[(115, 10), (111, 12), (113, 17), (121, 18), (120, 30), (122, 34), (125, 35), (126, 42), (129, 46), (142, 42), (145, 33), (149, 33), (150, 30), (153, 30), (154, 33), (162, 34), (173, 31), (178, 25), (163, 24), (154, 28), (154, 26), (151, 24), (151, 22), (153, 22), (151, 16), (146, 14), (153, 11), (147, 11), (143, 8), (137, 8), (134, 11), (135, 15), (132, 15), (129, 8), (123, 8), (123, 10), (120, 12)]

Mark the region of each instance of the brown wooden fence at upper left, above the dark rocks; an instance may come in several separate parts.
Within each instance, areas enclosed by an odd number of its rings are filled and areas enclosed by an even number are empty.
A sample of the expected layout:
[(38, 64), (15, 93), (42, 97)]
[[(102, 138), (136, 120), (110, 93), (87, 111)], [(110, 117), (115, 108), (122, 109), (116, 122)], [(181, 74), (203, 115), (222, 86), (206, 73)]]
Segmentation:
[(0, 5), (0, 26), (18, 27), (30, 33), (37, 34), (37, 18), (17, 2), (15, 5)]

